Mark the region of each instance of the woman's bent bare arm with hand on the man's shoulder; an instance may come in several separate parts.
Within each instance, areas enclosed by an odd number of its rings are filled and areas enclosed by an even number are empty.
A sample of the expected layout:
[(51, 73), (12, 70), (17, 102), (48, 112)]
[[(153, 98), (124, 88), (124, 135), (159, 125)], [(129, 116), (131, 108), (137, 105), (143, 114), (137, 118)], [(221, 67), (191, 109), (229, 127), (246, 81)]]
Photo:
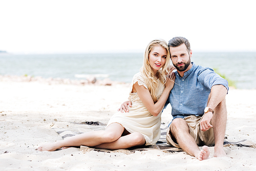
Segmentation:
[(169, 97), (169, 93), (174, 87), (175, 74), (172, 73), (170, 77), (171, 78), (166, 78), (165, 89), (156, 103), (154, 103), (150, 91), (144, 86), (139, 86), (138, 82), (133, 86), (147, 110), (154, 116), (157, 116), (162, 111), (163, 106)]

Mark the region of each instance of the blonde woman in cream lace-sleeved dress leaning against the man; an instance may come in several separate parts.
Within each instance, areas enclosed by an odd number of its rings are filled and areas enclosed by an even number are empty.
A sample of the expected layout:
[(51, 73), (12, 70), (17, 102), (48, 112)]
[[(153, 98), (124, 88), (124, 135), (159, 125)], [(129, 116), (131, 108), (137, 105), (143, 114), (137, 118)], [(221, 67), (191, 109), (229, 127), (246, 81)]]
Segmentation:
[(128, 113), (114, 114), (104, 131), (79, 134), (37, 149), (55, 151), (61, 147), (85, 145), (113, 150), (155, 144), (161, 134), (161, 112), (174, 86), (175, 75), (165, 75), (169, 63), (166, 42), (151, 41), (144, 53), (143, 66), (133, 77), (129, 95), (133, 106)]

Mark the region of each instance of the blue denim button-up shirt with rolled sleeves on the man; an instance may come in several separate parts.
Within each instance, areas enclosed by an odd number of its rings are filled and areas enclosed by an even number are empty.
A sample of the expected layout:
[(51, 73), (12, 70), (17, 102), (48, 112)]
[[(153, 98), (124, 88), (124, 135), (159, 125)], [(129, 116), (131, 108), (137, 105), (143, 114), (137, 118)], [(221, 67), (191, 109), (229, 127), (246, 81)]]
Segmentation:
[(210, 89), (214, 85), (222, 84), (228, 90), (228, 82), (214, 70), (193, 66), (181, 77), (176, 71), (174, 88), (164, 105), (164, 109), (170, 103), (173, 118), (184, 118), (189, 115), (203, 115), (207, 105)]

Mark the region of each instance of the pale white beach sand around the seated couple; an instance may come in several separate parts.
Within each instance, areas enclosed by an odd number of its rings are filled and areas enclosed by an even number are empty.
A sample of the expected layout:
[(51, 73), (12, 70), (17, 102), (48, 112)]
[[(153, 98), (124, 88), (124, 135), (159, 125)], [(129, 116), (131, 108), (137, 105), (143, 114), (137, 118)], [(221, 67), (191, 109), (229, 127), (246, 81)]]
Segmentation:
[[(80, 152), (71, 147), (55, 152), (35, 149), (61, 140), (52, 127), (72, 130), (82, 121), (108, 123), (127, 100), (129, 84), (112, 86), (0, 81), (0, 170), (255, 170), (256, 149), (230, 145), (228, 157), (199, 161), (184, 152), (149, 150), (123, 153)], [(256, 90), (230, 89), (226, 96), (228, 139), (256, 142)], [(170, 106), (162, 122), (172, 120)], [(212, 157), (214, 147), (210, 147)]]

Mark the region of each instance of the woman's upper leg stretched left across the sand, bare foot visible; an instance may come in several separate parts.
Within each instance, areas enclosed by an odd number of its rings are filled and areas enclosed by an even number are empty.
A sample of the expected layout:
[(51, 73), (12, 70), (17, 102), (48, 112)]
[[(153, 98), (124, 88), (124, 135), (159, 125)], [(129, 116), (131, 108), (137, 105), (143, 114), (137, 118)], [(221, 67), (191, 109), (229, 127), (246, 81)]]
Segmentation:
[(65, 140), (47, 143), (37, 148), (38, 151), (55, 151), (63, 146), (96, 146), (102, 143), (116, 141), (121, 137), (124, 127), (119, 123), (110, 124), (105, 131), (91, 131), (79, 134)]

